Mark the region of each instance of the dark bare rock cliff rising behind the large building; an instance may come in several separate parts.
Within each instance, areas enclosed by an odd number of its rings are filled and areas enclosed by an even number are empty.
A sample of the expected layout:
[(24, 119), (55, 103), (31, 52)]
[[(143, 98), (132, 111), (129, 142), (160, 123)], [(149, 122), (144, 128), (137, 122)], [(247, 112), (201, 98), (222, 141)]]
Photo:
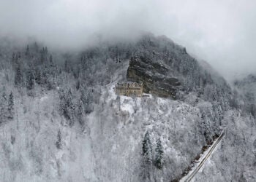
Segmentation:
[(153, 62), (140, 56), (130, 60), (127, 79), (143, 82), (143, 92), (176, 99), (176, 90), (181, 84), (178, 79), (168, 76), (170, 71), (164, 63)]

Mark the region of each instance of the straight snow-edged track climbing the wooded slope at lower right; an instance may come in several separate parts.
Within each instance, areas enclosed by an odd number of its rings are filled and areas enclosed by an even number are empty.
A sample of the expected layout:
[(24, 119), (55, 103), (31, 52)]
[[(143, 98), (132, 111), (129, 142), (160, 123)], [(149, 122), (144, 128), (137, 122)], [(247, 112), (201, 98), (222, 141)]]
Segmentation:
[(201, 159), (199, 159), (199, 163), (196, 167), (194, 167), (194, 169), (192, 169), (186, 176), (184, 176), (184, 178), (181, 178), (181, 181), (183, 182), (189, 182), (192, 180), (192, 178), (194, 178), (194, 176), (197, 174), (197, 172), (200, 170), (200, 168), (204, 165), (204, 163), (206, 162), (206, 160), (211, 156), (211, 154), (213, 153), (214, 149), (216, 149), (216, 147), (218, 146), (219, 142), (222, 141), (222, 138), (225, 135), (225, 131), (222, 132), (221, 135), (219, 135), (219, 138), (217, 138), (216, 141), (214, 141), (213, 145), (206, 151), (206, 155), (203, 155), (203, 157), (201, 157)]

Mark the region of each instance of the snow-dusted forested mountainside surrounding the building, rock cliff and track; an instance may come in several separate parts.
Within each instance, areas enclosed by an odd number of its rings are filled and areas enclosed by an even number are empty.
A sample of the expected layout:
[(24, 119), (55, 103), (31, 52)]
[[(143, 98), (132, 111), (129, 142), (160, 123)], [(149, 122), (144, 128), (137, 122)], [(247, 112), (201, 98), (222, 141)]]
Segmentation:
[[(116, 95), (132, 59), (150, 60), (147, 73), (167, 68), (180, 82), (176, 97)], [(2, 39), (0, 181), (178, 181), (222, 130), (195, 179), (255, 181), (255, 95), (241, 82), (230, 87), (185, 47), (150, 33), (81, 52)]]

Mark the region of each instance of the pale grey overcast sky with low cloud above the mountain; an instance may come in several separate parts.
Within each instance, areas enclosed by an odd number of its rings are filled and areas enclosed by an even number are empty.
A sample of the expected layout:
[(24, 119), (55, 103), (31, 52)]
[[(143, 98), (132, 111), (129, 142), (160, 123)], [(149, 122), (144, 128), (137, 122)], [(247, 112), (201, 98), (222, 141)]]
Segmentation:
[(141, 31), (165, 34), (227, 79), (256, 73), (255, 0), (0, 0), (0, 36), (76, 48)]

